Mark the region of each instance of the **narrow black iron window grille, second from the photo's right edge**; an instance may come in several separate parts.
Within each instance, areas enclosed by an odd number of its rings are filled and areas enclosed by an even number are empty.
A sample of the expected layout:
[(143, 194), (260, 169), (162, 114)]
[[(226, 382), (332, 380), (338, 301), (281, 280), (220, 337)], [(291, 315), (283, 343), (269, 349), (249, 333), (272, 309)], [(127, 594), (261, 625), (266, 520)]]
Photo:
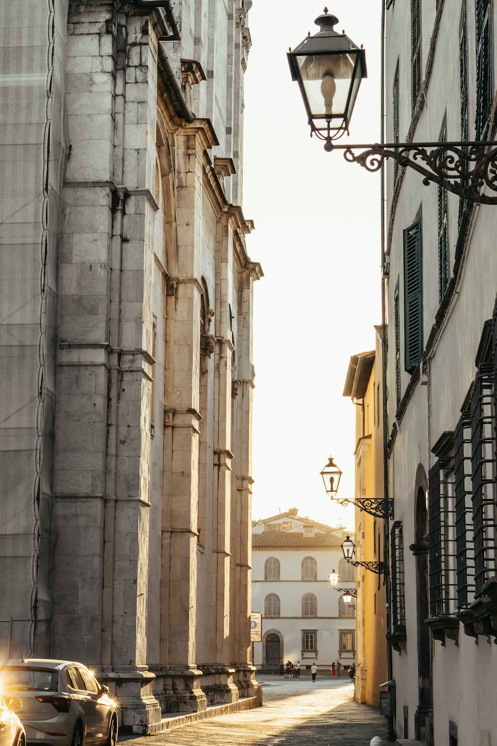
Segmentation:
[(471, 413), (463, 412), (454, 433), (455, 542), (457, 551), (458, 608), (475, 595), (475, 547), (471, 487)]

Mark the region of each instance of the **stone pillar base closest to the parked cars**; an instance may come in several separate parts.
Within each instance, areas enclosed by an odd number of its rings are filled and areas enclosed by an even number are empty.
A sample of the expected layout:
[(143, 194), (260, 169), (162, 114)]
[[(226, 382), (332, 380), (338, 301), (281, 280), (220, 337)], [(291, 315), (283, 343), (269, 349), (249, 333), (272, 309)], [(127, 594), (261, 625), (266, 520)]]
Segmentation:
[(119, 728), (130, 733), (151, 733), (161, 720), (159, 702), (153, 696), (155, 675), (147, 666), (124, 666), (95, 671), (119, 704)]

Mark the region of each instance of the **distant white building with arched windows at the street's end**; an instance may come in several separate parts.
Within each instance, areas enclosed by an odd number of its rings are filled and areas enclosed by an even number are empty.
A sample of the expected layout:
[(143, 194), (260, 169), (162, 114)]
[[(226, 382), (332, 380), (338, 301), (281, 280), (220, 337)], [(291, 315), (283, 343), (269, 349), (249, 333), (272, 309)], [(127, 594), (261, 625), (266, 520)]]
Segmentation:
[(263, 670), (279, 662), (316, 663), (329, 669), (355, 659), (355, 610), (329, 583), (355, 588), (355, 568), (341, 551), (342, 528), (297, 515), (297, 508), (252, 524), (252, 608), (262, 612), (262, 642), (254, 643), (254, 664)]

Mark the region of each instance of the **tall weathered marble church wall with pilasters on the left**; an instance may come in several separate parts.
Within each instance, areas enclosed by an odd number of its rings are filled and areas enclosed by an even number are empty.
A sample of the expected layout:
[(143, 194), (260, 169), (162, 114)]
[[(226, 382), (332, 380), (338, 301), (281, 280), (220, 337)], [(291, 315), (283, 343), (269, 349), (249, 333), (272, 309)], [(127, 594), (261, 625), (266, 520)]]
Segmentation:
[(1, 10), (0, 618), (25, 654), (49, 619), (137, 732), (259, 701), (251, 4)]

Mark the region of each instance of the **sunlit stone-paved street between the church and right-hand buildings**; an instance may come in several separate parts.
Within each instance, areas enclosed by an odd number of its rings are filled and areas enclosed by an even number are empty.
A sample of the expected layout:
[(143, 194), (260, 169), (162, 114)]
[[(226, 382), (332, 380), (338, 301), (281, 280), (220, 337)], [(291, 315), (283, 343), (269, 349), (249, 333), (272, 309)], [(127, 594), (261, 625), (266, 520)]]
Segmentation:
[[(156, 736), (119, 739), (126, 746), (370, 746), (387, 740), (387, 721), (352, 699), (349, 679), (257, 677), (262, 707), (206, 719)], [(153, 741), (151, 740), (153, 739)]]

